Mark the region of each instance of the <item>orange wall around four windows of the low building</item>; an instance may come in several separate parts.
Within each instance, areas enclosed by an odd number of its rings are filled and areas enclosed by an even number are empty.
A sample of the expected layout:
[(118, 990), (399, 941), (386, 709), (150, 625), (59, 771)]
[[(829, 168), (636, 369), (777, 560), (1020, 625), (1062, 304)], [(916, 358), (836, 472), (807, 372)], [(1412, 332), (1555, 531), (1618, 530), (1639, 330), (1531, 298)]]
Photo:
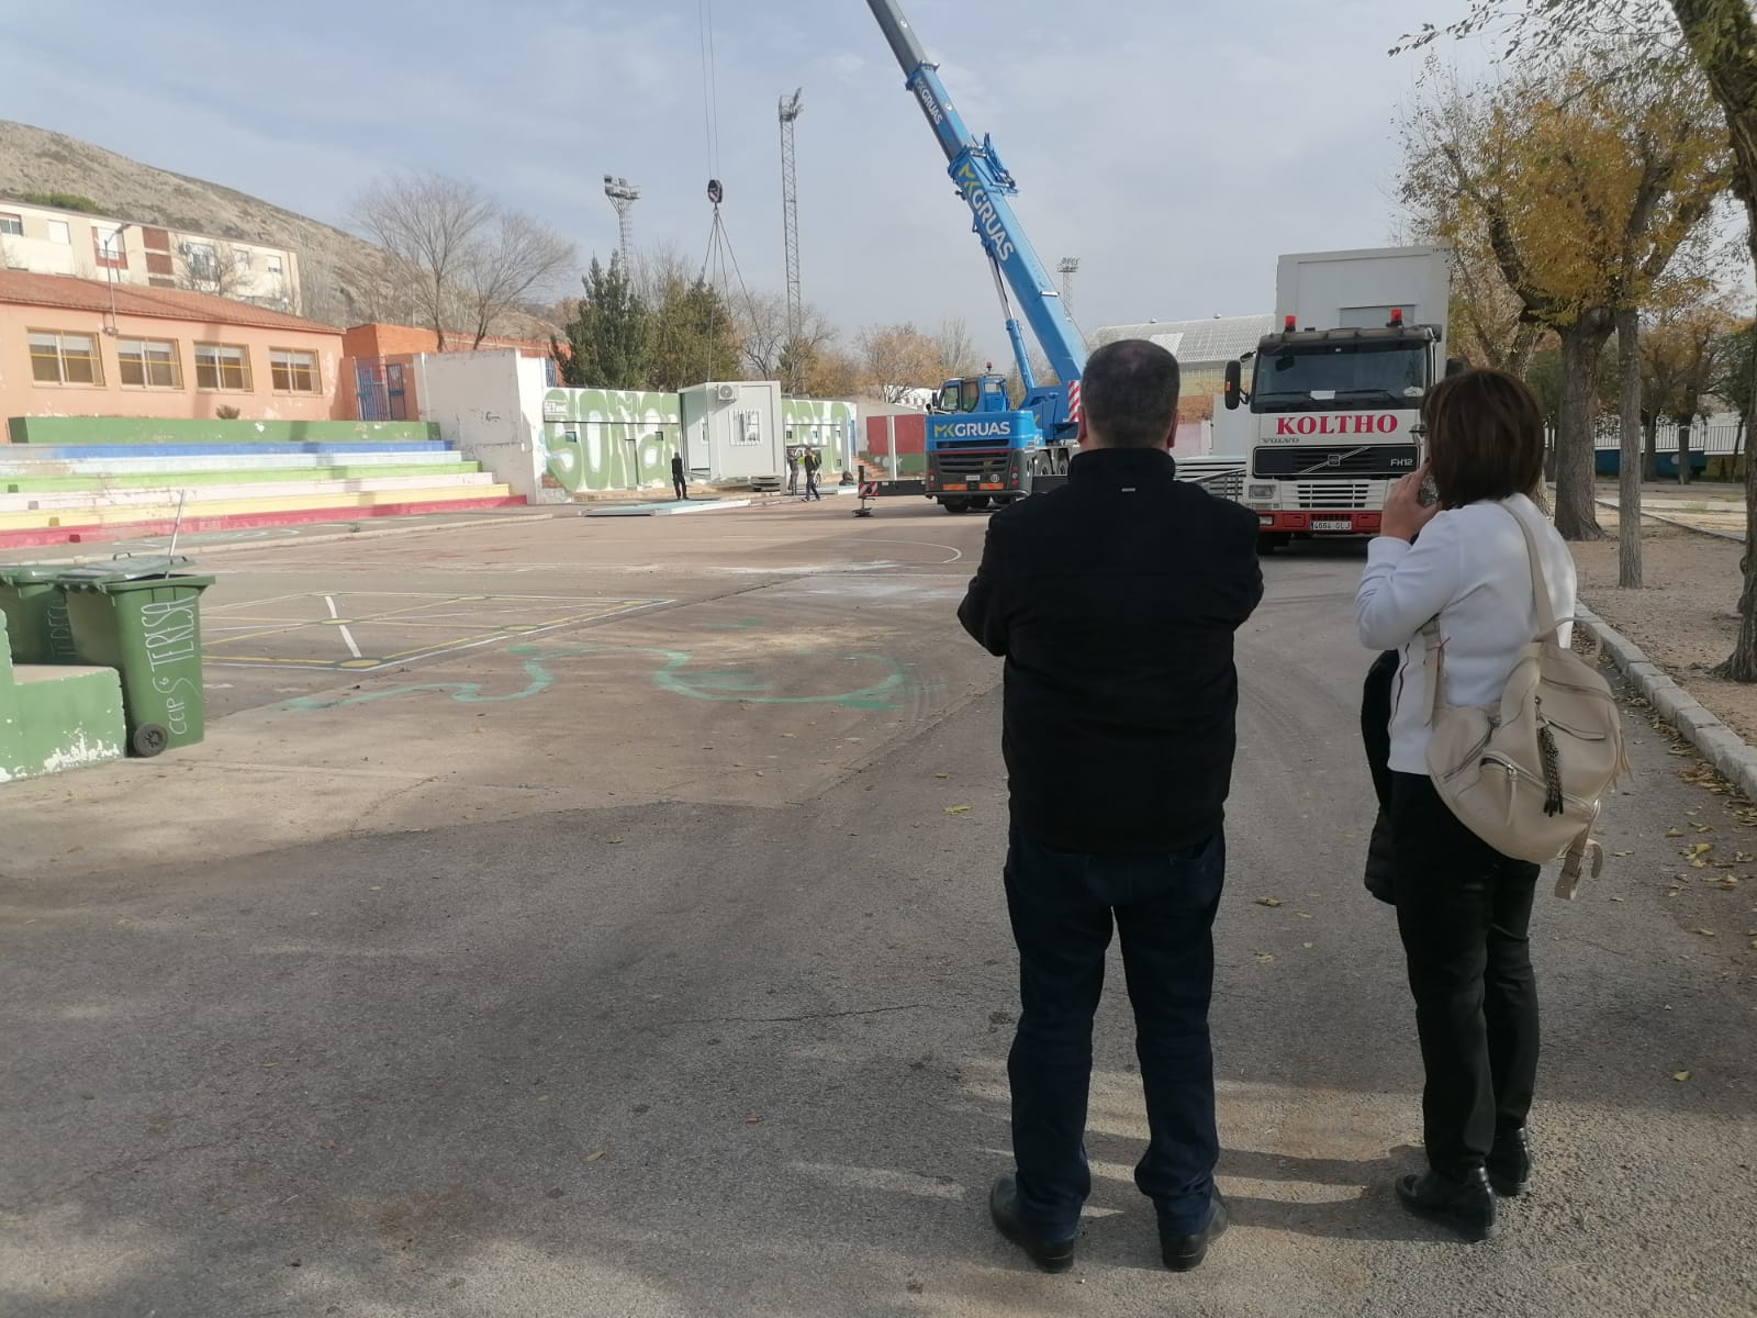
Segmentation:
[[(0, 306), (0, 416), (153, 416), (206, 420), (218, 408), (234, 406), (242, 420), (327, 422), (350, 420), (355, 409), (353, 380), (341, 380), (341, 332), (320, 334), (290, 329), (246, 329), (193, 320), (118, 315), (118, 337), (174, 339), (183, 364), (183, 388), (123, 387), (116, 364), (116, 339), (104, 332), (102, 311), (72, 311), (39, 306)], [(40, 385), (30, 369), (30, 330), (91, 334), (104, 360), (102, 385)], [(199, 390), (195, 387), (195, 343), (235, 343), (249, 350), (251, 387)], [(269, 371), (271, 348), (315, 351), (318, 394), (278, 394)], [(411, 416), (415, 413), (409, 413)], [(0, 434), (4, 443), (4, 434)]]

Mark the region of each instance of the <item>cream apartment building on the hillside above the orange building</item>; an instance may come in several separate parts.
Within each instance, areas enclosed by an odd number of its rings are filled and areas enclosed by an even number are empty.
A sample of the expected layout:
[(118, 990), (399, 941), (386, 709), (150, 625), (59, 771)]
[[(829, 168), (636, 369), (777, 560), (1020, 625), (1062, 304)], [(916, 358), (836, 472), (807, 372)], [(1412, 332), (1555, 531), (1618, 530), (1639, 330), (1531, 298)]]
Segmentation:
[(274, 311), (299, 311), (299, 257), (286, 248), (5, 197), (0, 197), (0, 267), (142, 288), (181, 288)]

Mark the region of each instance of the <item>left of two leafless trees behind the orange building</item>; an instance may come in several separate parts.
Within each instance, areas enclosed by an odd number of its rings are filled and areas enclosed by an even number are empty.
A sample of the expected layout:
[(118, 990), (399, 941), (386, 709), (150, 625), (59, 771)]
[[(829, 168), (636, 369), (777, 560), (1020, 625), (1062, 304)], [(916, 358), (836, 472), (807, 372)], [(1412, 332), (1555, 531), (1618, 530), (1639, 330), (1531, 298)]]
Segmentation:
[(446, 350), (448, 322), (457, 315), (455, 290), (495, 209), (474, 183), (441, 174), (381, 179), (353, 206), (355, 223), (420, 272), (413, 301), (422, 322), (437, 336), (439, 351)]

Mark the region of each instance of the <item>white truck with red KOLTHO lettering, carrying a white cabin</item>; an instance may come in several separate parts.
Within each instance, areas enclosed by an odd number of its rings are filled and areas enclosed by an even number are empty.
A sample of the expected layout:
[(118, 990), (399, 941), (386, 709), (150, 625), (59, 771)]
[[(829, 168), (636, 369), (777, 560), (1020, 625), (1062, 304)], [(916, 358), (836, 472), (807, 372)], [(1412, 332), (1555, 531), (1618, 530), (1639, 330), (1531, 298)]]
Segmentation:
[(1421, 399), (1451, 369), (1450, 288), (1437, 246), (1279, 260), (1283, 329), (1226, 366), (1225, 406), (1247, 408), (1247, 424), (1214, 427), (1216, 450), (1232, 446), (1219, 443), (1228, 432), (1247, 445), (1235, 497), (1256, 513), (1263, 552), (1379, 529), (1392, 483), (1421, 466)]

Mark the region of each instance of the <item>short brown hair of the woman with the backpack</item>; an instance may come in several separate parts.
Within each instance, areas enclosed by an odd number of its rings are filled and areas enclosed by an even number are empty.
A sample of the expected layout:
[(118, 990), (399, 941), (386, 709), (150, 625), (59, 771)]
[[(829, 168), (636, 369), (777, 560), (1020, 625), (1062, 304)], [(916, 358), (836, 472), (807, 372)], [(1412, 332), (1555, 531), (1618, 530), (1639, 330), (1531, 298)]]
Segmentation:
[(1536, 496), (1543, 482), (1543, 408), (1518, 376), (1465, 371), (1421, 402), (1427, 459), (1442, 508)]

